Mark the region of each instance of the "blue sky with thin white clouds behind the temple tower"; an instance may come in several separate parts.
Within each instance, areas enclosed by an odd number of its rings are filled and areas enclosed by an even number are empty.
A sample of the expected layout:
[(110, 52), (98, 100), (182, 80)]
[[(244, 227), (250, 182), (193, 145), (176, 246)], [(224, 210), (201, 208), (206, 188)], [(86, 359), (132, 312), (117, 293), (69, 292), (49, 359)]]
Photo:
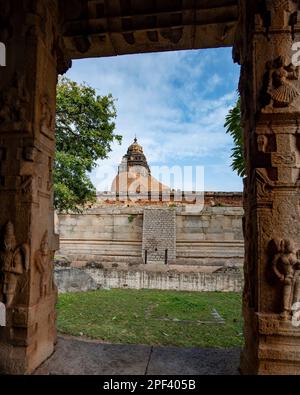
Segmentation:
[[(109, 159), (92, 172), (98, 190), (109, 189), (135, 134), (154, 176), (161, 167), (203, 166), (205, 190), (242, 190), (223, 127), (239, 79), (230, 48), (77, 60), (67, 76), (117, 99), (116, 132), (123, 142), (113, 144)], [(172, 187), (195, 189), (188, 177), (179, 184)]]

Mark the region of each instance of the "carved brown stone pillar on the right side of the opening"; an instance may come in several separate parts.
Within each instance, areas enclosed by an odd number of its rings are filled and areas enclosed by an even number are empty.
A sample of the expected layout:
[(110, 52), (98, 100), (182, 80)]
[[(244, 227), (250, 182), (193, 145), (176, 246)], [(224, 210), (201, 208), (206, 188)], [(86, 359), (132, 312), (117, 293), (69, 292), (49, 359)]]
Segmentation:
[(247, 159), (243, 374), (300, 374), (298, 3), (240, 1), (234, 57)]

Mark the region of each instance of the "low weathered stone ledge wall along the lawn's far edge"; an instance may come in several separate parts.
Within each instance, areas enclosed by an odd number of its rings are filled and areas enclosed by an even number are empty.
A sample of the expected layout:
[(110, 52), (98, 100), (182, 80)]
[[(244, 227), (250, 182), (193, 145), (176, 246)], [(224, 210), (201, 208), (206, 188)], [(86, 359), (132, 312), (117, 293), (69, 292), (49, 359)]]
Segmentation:
[(241, 272), (201, 273), (178, 270), (56, 268), (55, 282), (61, 293), (95, 290), (98, 288), (241, 292), (243, 276)]

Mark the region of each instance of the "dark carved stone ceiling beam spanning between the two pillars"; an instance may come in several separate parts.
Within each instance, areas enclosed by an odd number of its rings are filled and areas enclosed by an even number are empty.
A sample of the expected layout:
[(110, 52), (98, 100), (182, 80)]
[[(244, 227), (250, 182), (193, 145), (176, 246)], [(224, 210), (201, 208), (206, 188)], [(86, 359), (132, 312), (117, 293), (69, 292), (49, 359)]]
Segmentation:
[(238, 0), (64, 0), (73, 59), (231, 46)]

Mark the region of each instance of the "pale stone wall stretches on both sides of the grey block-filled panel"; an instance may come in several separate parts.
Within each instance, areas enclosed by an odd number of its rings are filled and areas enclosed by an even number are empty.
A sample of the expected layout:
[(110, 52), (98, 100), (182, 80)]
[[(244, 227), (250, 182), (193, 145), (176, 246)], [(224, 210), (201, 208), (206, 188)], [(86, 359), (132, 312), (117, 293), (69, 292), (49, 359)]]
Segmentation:
[[(143, 263), (142, 235), (145, 207), (103, 206), (84, 214), (60, 215), (60, 251), (73, 266), (94, 261), (102, 264)], [(176, 263), (181, 265), (235, 266), (243, 264), (243, 209), (205, 207), (176, 212)], [(169, 262), (171, 263), (171, 262)]]

